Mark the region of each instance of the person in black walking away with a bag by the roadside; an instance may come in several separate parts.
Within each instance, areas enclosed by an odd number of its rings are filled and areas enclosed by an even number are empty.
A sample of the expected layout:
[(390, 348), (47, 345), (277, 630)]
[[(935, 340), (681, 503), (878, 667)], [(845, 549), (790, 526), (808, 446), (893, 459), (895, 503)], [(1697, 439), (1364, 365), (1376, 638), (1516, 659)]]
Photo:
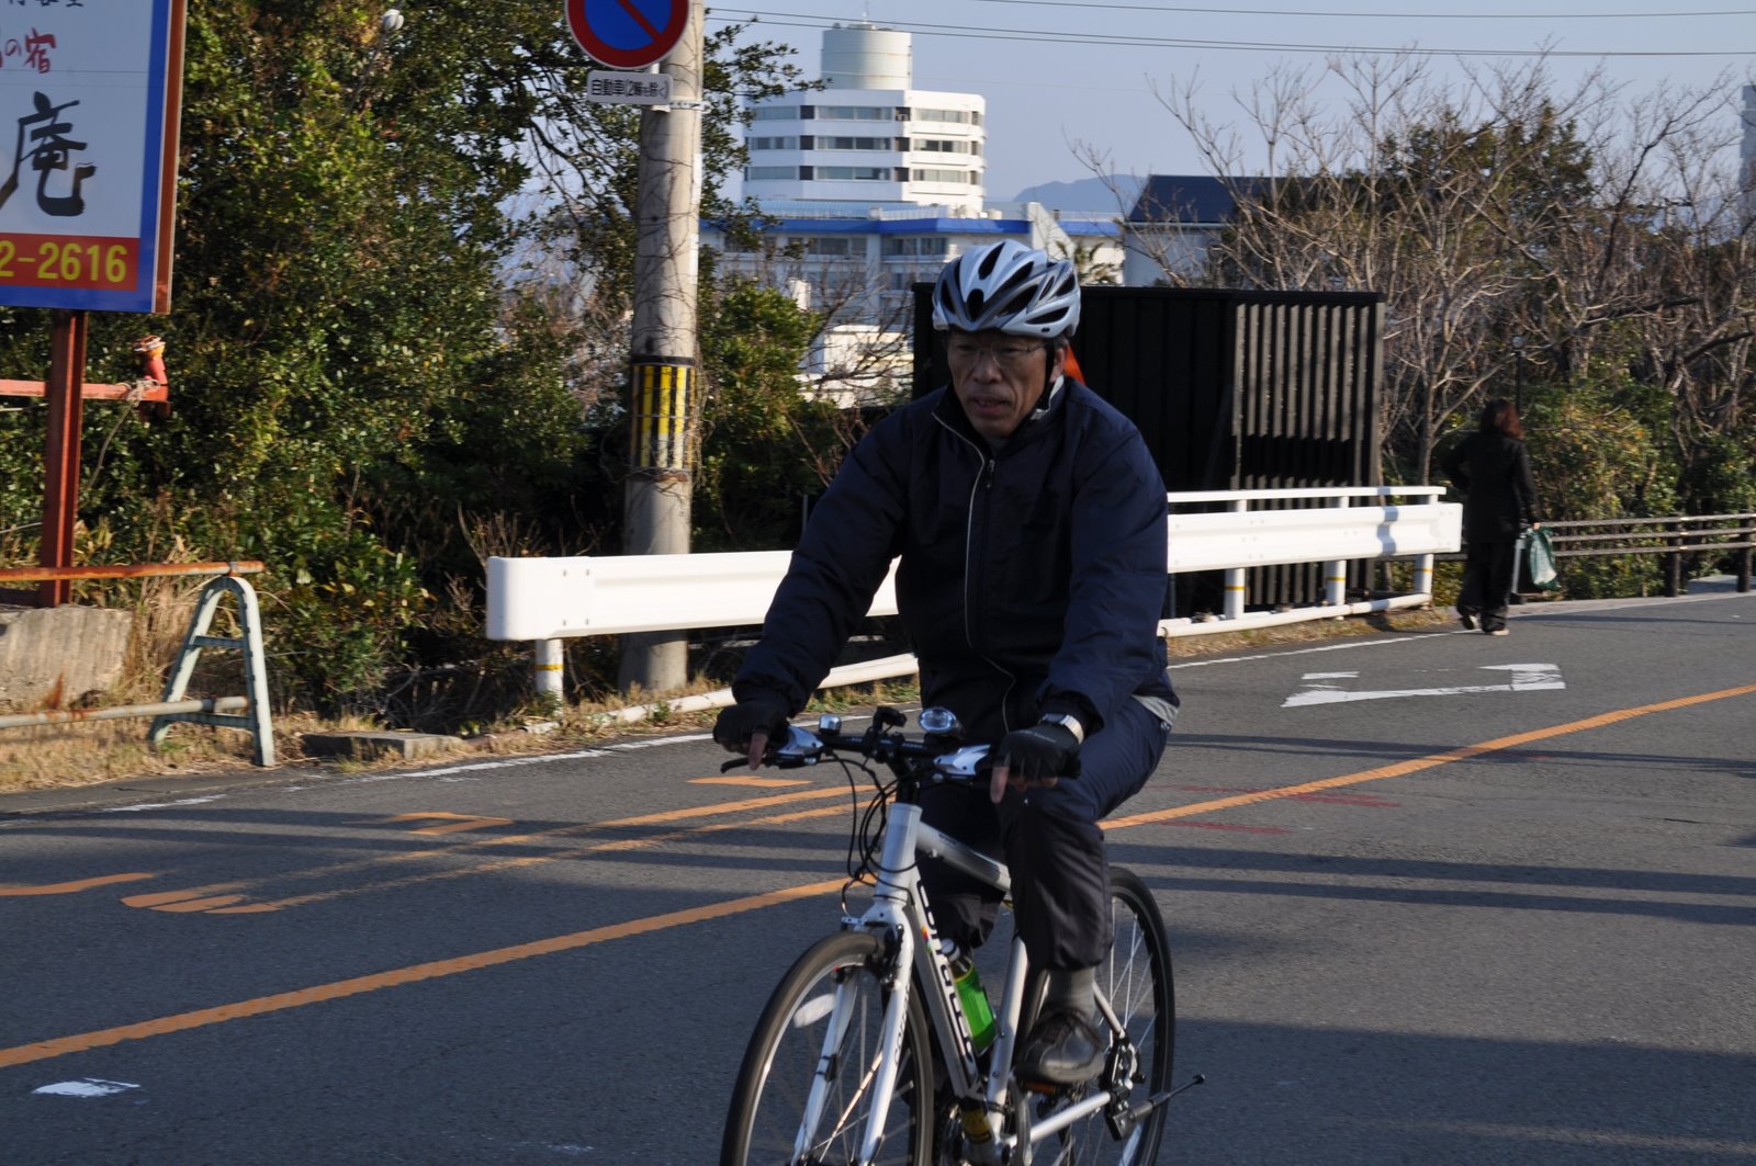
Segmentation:
[(1482, 407), (1482, 420), (1440, 462), (1463, 500), (1463, 590), (1457, 618), (1489, 636), (1507, 634), (1507, 597), (1524, 527), (1538, 527), (1536, 481), (1524, 451), (1519, 411), (1505, 397)]

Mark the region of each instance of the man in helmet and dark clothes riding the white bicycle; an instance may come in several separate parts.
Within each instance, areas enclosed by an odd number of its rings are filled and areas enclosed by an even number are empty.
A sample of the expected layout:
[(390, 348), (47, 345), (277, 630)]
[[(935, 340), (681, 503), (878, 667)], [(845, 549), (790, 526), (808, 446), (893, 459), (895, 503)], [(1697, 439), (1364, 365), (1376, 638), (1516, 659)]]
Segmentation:
[[(1041, 1015), (1015, 1066), (1057, 1085), (1101, 1068), (1092, 969), (1110, 950), (1098, 820), (1159, 764), (1177, 694), (1157, 623), (1164, 483), (1133, 421), (1066, 376), (1080, 318), (1068, 260), (1013, 241), (939, 272), (948, 388), (860, 441), (811, 511), (713, 738), (759, 766), (804, 708), (890, 560), (922, 701), (997, 743), (989, 799), (922, 795), (924, 820), (1004, 855)], [(1059, 778), (1078, 774), (1076, 780)], [(939, 931), (978, 946), (994, 894), (922, 862)]]

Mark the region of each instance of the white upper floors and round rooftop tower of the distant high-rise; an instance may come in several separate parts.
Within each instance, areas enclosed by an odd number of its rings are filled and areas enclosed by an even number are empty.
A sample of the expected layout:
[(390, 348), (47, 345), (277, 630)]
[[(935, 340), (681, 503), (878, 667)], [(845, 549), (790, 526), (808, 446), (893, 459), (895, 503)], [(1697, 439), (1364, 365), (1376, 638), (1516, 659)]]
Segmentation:
[(859, 202), (982, 211), (987, 102), (915, 90), (906, 32), (824, 30), (824, 90), (757, 102), (745, 193), (757, 202)]

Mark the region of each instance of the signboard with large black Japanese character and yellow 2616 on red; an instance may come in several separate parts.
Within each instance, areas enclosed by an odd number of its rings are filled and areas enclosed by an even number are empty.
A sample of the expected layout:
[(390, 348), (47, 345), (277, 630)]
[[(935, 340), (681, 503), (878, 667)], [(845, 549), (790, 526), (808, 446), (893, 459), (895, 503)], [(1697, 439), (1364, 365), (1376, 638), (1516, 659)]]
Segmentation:
[(0, 0), (0, 304), (170, 311), (186, 0)]

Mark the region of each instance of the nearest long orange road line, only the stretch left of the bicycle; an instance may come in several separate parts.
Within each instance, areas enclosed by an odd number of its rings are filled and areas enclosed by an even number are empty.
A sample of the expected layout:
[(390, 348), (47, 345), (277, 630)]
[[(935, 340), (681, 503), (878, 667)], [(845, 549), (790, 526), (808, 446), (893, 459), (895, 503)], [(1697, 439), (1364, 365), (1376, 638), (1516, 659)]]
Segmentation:
[(244, 1017), (262, 1017), (270, 1011), (304, 1008), (306, 1004), (321, 1004), (325, 1001), (346, 999), (349, 996), (358, 996), (362, 992), (393, 989), (404, 983), (420, 983), (421, 980), (432, 980), (437, 976), (455, 976), (462, 971), (479, 971), (483, 968), (493, 968), (497, 964), (511, 964), (513, 961), (530, 959), (534, 955), (553, 955), (557, 952), (571, 952), (576, 948), (592, 946), (594, 943), (608, 943), (609, 939), (627, 939), (630, 936), (646, 934), (650, 931), (662, 931), (666, 927), (685, 927), (688, 924), (702, 924), (713, 918), (725, 918), (727, 915), (739, 915), (743, 911), (755, 911), (766, 906), (776, 906), (781, 903), (792, 903), (794, 899), (808, 899), (811, 896), (839, 890), (841, 883), (843, 880), (836, 878), (832, 882), (810, 883), (806, 887), (783, 887), (780, 890), (769, 890), (759, 896), (745, 896), (741, 899), (709, 903), (706, 906), (695, 906), (683, 911), (669, 911), (666, 915), (650, 915), (646, 918), (634, 918), (625, 924), (609, 924), (608, 927), (592, 927), (590, 931), (576, 931), (569, 936), (536, 939), (534, 943), (516, 943), (513, 946), (493, 948), (492, 952), (476, 952), (474, 955), (458, 955), (455, 959), (435, 959), (427, 964), (414, 964), (411, 968), (393, 968), (392, 971), (379, 971), (369, 976), (353, 976), (351, 980), (337, 980), (334, 983), (320, 983), (316, 987), (299, 989), (293, 992), (276, 992), (274, 996), (258, 996), (256, 999), (246, 999), (235, 1004), (220, 1004), (218, 1008), (197, 1008), (195, 1011), (184, 1011), (172, 1017), (160, 1017), (156, 1020), (142, 1020), (139, 1024), (123, 1024), (112, 1029), (98, 1029), (95, 1033), (79, 1033), (77, 1036), (60, 1036), (47, 1041), (37, 1041), (33, 1045), (0, 1048), (0, 1069), (12, 1068), (16, 1064), (30, 1064), (32, 1061), (65, 1057), (67, 1054), (74, 1052), (104, 1048), (105, 1045), (119, 1045), (123, 1041), (144, 1040), (148, 1036), (167, 1036), (170, 1033), (186, 1033), (190, 1029), (198, 1029), (209, 1024), (221, 1024), (225, 1020), (242, 1020)]

